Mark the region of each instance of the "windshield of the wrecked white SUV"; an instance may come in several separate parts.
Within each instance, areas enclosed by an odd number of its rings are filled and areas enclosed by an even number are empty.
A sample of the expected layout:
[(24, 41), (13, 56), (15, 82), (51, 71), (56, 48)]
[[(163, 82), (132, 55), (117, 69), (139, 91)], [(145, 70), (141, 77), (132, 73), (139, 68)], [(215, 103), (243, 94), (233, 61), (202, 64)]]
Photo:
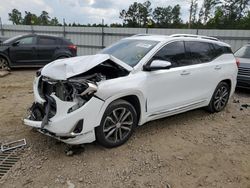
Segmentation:
[(110, 54), (134, 67), (157, 44), (151, 40), (125, 39), (103, 49), (101, 54)]

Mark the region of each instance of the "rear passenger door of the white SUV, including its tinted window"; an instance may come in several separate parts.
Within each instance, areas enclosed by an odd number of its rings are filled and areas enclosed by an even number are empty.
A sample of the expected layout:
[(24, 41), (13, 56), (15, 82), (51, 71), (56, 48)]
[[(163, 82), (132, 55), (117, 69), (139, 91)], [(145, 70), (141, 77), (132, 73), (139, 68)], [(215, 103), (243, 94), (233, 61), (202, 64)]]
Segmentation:
[[(220, 77), (214, 46), (208, 42), (185, 41), (187, 59), (190, 61), (190, 95), (194, 101), (209, 102)], [(189, 79), (189, 77), (187, 76)]]

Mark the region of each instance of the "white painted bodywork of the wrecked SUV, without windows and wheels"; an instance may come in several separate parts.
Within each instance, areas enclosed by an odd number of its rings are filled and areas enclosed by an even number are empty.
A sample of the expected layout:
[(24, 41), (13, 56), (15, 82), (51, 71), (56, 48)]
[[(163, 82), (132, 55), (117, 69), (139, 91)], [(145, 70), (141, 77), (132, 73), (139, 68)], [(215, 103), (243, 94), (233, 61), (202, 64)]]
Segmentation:
[[(149, 51), (133, 68), (108, 54), (74, 57), (57, 60), (46, 65), (41, 75), (53, 80), (67, 81), (75, 75), (87, 72), (99, 64), (111, 60), (129, 72), (127, 76), (103, 80), (97, 84), (94, 96), (77, 110), (68, 113), (76, 102), (66, 102), (53, 93), (50, 95), (56, 102), (57, 112), (41, 130), (42, 121), (24, 119), (24, 124), (38, 128), (40, 132), (53, 136), (68, 144), (91, 143), (95, 138), (95, 127), (99, 126), (105, 110), (113, 101), (136, 96), (140, 103), (139, 125), (178, 114), (188, 110), (207, 106), (213, 92), (222, 80), (231, 81), (231, 95), (236, 86), (237, 66), (232, 54), (224, 54), (209, 63), (195, 64), (156, 71), (143, 71), (143, 66), (164, 45), (173, 41), (193, 40), (187, 37), (171, 38), (167, 36), (135, 36), (128, 39), (157, 40), (159, 43)], [(211, 40), (202, 39), (211, 42)], [(217, 44), (228, 46), (219, 41)], [(38, 92), (40, 77), (34, 80), (35, 102), (46, 101)], [(81, 133), (73, 133), (76, 123), (83, 119)], [(48, 132), (47, 132), (48, 131)], [(51, 135), (50, 133), (53, 133)], [(62, 139), (64, 136), (72, 138)]]

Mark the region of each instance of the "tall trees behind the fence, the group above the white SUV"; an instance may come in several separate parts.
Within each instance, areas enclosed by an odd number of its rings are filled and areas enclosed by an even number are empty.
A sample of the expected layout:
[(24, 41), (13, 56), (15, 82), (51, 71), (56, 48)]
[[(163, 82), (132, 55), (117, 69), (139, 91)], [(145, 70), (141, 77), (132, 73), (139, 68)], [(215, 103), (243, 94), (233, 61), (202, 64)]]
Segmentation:
[(151, 8), (134, 2), (120, 12), (123, 26), (159, 28), (250, 29), (250, 0), (190, 0), (189, 20), (181, 19), (181, 6)]

